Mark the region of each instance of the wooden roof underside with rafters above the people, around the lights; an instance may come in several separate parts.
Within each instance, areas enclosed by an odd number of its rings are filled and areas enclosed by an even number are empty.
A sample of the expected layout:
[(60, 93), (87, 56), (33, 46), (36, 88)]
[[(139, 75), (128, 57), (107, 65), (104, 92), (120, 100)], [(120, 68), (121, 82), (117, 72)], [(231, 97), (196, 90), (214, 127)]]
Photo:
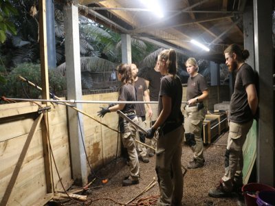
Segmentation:
[(166, 48), (182, 49), (187, 55), (188, 52), (192, 55), (192, 52), (199, 51), (194, 50), (191, 37), (201, 36), (206, 45), (211, 45), (211, 50), (207, 53), (201, 51), (199, 55), (209, 59), (216, 55), (217, 59), (223, 61), (224, 47), (231, 43), (243, 43), (241, 19), (249, 1), (234, 1), (165, 0), (166, 18), (161, 20), (150, 14), (150, 10), (139, 1), (78, 0), (78, 3), (89, 6), (85, 10), (81, 8), (81, 14), (116, 32), (143, 38), (159, 46), (166, 45)]

